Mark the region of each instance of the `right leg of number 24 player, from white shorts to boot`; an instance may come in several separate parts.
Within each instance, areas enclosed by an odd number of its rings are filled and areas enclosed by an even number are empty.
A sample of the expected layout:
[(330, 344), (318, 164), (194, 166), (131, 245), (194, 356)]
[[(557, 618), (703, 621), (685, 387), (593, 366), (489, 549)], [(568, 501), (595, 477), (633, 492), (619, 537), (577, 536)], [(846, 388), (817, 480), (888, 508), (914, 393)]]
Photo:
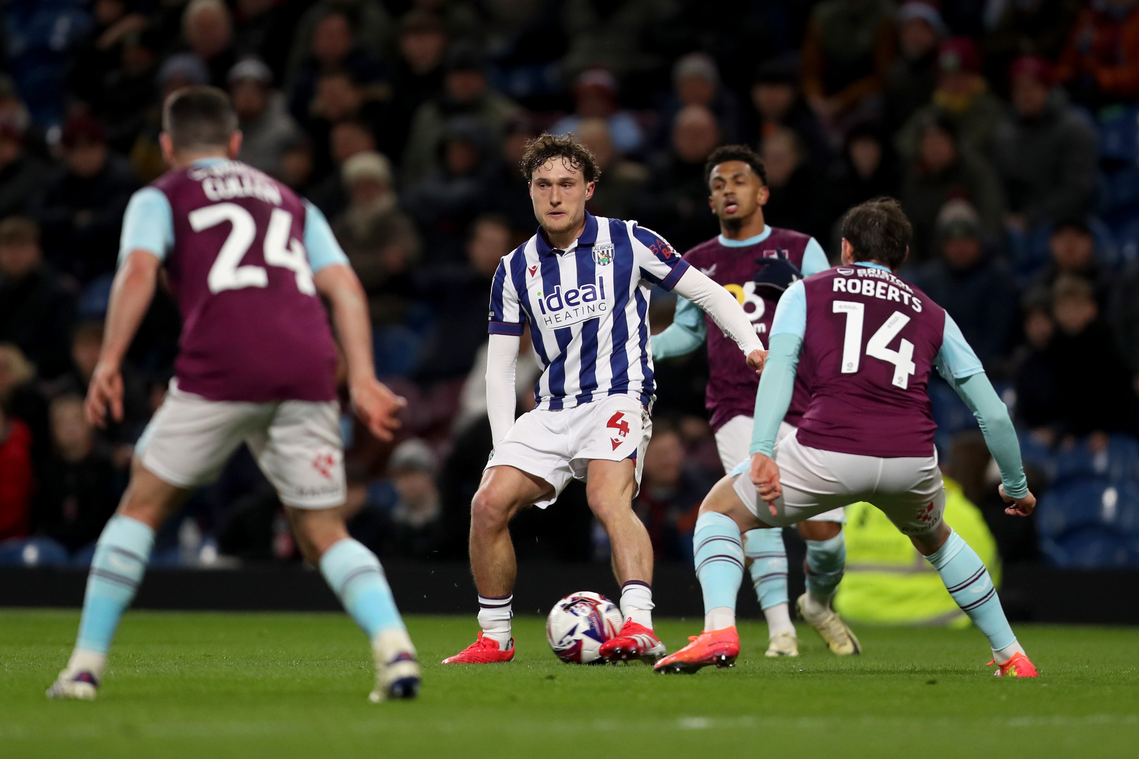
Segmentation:
[(286, 401), (262, 406), (264, 418), (246, 443), (285, 504), (302, 554), (320, 568), (371, 643), (376, 688), (369, 699), (413, 698), (419, 665), (384, 569), (344, 526), (341, 506), (347, 486), (338, 404)]

